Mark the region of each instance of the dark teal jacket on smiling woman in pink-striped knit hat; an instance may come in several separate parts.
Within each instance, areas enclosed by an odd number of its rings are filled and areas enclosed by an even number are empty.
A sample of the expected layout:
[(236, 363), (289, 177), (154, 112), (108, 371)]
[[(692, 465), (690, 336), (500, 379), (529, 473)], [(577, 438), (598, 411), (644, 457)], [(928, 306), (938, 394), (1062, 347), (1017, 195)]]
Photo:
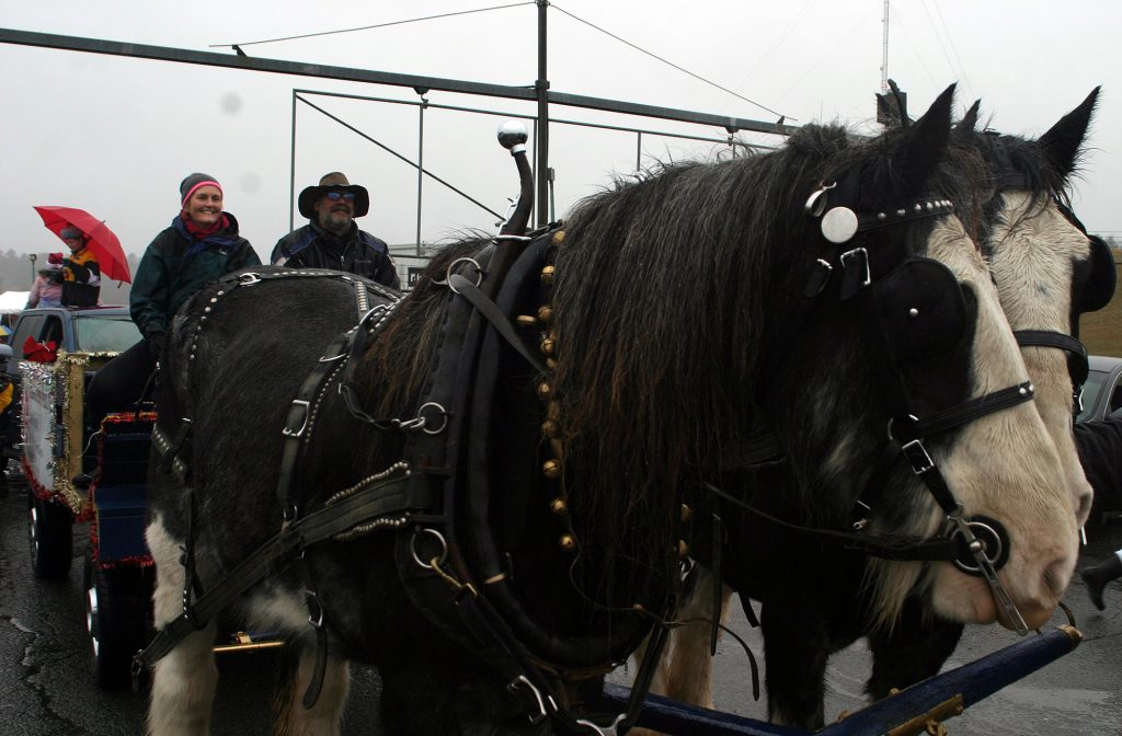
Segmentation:
[(167, 332), (176, 310), (203, 284), (247, 266), (260, 266), (249, 241), (238, 234), (238, 221), (224, 213), (229, 226), (194, 240), (180, 215), (148, 246), (129, 296), (129, 313), (145, 339)]

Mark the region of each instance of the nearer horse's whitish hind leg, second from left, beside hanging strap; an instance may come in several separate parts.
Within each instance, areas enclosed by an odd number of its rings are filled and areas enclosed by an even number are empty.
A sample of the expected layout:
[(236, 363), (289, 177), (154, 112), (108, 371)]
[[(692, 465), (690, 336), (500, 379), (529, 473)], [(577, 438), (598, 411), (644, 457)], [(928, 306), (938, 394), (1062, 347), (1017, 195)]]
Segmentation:
[(347, 660), (328, 655), (320, 697), (311, 708), (304, 707), (304, 693), (315, 671), (315, 647), (302, 646), (300, 661), (285, 688), (277, 718), (279, 736), (337, 736), (350, 691), (350, 666)]

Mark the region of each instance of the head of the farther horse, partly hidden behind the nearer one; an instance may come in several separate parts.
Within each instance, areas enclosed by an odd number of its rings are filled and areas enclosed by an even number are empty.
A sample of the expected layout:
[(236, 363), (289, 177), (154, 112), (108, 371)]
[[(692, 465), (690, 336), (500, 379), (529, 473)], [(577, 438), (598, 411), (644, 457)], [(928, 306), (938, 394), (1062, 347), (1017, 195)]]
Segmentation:
[(1036, 140), (977, 132), (977, 103), (953, 136), (956, 146), (984, 159), (992, 182), (985, 205), (991, 215), (982, 220), (977, 240), (1023, 347), (1037, 408), (1059, 451), (1078, 525), (1086, 521), (1092, 499), (1072, 434), (1073, 393), (1077, 401), (1087, 376), (1078, 319), (1105, 306), (1115, 285), (1110, 249), (1087, 236), (1067, 205), (1097, 96), (1096, 88)]

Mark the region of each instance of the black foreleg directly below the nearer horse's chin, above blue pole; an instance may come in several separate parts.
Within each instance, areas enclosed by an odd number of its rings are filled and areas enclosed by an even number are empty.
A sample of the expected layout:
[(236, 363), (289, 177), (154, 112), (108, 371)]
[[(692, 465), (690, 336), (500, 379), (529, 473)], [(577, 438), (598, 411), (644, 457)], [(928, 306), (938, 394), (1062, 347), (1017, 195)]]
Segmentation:
[(873, 674), (865, 692), (881, 700), (892, 688), (903, 690), (937, 674), (962, 635), (962, 624), (925, 615), (921, 602), (909, 597), (891, 632), (868, 635)]

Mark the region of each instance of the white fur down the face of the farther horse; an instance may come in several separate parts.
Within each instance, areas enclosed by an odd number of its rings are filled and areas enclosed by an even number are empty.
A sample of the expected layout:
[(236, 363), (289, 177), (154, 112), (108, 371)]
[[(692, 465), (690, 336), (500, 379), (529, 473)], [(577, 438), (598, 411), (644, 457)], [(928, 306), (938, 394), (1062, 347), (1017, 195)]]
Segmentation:
[[(1091, 257), (1091, 242), (1051, 202), (1033, 208), (1027, 192), (1006, 192), (995, 223), (990, 268), (1013, 330), (1072, 330), (1075, 264)], [(1065, 486), (1083, 525), (1091, 514), (1092, 488), (1083, 472), (1072, 432), (1072, 377), (1067, 353), (1055, 348), (1022, 348), (1036, 404), (1059, 452)]]

